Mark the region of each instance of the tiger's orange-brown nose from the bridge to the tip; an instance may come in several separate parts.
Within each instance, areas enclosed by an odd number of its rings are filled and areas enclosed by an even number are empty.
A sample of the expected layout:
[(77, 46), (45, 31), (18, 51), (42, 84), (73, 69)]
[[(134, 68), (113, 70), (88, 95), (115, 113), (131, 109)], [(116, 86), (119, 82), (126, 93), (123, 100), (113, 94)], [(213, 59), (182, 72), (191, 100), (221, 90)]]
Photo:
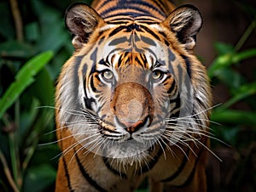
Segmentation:
[(111, 110), (129, 133), (136, 132), (154, 118), (154, 99), (147, 88), (137, 82), (123, 82), (113, 91)]

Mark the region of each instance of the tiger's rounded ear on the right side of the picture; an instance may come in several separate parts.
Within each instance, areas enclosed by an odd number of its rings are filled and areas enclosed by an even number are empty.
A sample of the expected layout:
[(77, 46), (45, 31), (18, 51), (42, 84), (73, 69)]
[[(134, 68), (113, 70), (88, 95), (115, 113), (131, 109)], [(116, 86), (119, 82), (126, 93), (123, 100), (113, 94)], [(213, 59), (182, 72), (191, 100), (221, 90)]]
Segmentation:
[(183, 5), (172, 11), (164, 21), (171, 30), (176, 33), (179, 42), (185, 45), (187, 50), (195, 48), (196, 34), (201, 30), (201, 13), (193, 5)]

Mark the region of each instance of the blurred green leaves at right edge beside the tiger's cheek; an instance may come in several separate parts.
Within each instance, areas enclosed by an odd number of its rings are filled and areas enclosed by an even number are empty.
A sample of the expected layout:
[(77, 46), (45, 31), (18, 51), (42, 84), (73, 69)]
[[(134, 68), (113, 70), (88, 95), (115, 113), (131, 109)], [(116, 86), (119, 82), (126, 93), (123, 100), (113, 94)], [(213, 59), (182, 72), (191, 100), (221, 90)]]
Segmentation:
[[(256, 48), (239, 52), (235, 50), (235, 47), (221, 42), (216, 44), (216, 48), (220, 54), (208, 69), (208, 76), (216, 85), (221, 83), (226, 86), (230, 93), (230, 99), (212, 111), (212, 121), (229, 125), (230, 128), (239, 126), (241, 130), (244, 126), (249, 126), (252, 128), (252, 133), (255, 134), (253, 130), (255, 131), (256, 128), (256, 106), (252, 103), (256, 95), (256, 81), (248, 82), (246, 76), (242, 76), (237, 68), (243, 60), (256, 57)], [(239, 103), (245, 104), (248, 109), (233, 109), (233, 106)], [(225, 127), (225, 129), (228, 127)], [(218, 134), (222, 134), (222, 130), (222, 128), (219, 129)], [(237, 134), (240, 134), (240, 132), (237, 132)], [(235, 141), (232, 141), (232, 138), (236, 137), (229, 137), (229, 135), (224, 137), (224, 135), (226, 134), (223, 134), (222, 138), (225, 141), (234, 144)], [(238, 135), (236, 136), (238, 137)], [(239, 144), (237, 147), (239, 147)]]

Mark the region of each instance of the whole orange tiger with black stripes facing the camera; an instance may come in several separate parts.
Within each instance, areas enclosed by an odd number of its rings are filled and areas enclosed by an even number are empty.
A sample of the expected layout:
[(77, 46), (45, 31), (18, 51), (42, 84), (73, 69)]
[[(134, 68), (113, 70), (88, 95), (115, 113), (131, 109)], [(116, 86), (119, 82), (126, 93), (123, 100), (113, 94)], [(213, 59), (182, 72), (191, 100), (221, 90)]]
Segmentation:
[(56, 192), (207, 191), (212, 91), (198, 8), (95, 0), (67, 8), (73, 55), (56, 82)]

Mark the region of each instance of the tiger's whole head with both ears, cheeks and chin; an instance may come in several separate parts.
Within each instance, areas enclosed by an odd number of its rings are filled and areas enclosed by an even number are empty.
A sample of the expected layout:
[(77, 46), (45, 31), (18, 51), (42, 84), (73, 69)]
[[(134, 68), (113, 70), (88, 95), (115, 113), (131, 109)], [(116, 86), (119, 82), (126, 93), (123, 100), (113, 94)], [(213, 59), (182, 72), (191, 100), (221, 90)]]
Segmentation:
[(201, 24), (189, 5), (150, 22), (68, 8), (75, 53), (57, 85), (59, 127), (83, 149), (130, 163), (207, 133), (211, 92), (193, 54)]

